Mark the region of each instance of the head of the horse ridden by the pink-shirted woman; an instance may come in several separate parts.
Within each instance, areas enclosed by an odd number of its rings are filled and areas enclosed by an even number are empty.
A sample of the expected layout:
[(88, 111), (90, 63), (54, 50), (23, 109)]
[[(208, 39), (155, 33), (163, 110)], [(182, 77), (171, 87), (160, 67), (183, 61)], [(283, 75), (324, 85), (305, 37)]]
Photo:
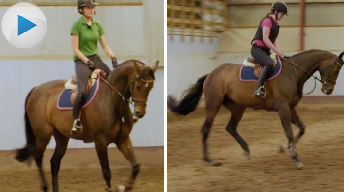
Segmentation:
[(335, 59), (330, 63), (328, 63), (328, 60), (324, 60), (319, 65), (319, 72), (322, 82), (321, 91), (326, 95), (331, 94), (334, 89), (339, 70), (343, 66), (343, 54), (344, 52), (342, 52), (338, 57), (335, 57)]

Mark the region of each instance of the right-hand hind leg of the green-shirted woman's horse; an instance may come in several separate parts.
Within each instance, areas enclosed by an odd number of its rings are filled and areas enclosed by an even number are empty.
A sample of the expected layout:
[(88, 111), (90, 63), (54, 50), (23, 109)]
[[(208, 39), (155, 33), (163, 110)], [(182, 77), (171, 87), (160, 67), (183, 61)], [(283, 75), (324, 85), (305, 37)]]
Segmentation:
[(52, 176), (52, 188), (53, 192), (59, 191), (58, 175), (60, 170), (61, 160), (66, 153), (69, 137), (64, 136), (58, 130), (55, 129), (54, 138), (56, 141), (56, 147), (53, 156), (50, 159), (50, 168)]

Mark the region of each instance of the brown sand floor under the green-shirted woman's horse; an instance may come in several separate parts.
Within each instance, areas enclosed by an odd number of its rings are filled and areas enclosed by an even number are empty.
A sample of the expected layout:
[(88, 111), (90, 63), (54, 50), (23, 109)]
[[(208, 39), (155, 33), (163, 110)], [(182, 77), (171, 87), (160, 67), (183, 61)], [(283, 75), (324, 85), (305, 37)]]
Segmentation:
[[(24, 141), (23, 141), (24, 143)], [(134, 149), (141, 170), (134, 184), (133, 192), (164, 191), (164, 148), (137, 147)], [(52, 150), (44, 156), (44, 169), (51, 191), (50, 158)], [(109, 148), (109, 164), (113, 187), (123, 185), (131, 173), (131, 167), (117, 148)], [(0, 151), (0, 191), (38, 192), (41, 189), (38, 169), (34, 161), (31, 166), (14, 159), (14, 151)], [(94, 148), (68, 149), (61, 161), (59, 172), (61, 192), (102, 192), (105, 181)]]

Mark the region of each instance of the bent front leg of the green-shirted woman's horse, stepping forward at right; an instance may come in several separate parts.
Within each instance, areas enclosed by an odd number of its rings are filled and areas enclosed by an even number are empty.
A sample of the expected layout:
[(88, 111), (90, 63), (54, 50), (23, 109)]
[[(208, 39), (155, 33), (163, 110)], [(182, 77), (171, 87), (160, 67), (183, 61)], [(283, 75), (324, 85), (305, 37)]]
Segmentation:
[(118, 149), (122, 152), (124, 155), (125, 159), (129, 160), (131, 164), (131, 175), (126, 182), (125, 186), (120, 186), (119, 190), (120, 191), (129, 191), (132, 189), (133, 184), (135, 182), (136, 176), (139, 174), (140, 171), (140, 163), (137, 162), (134, 154), (134, 150), (131, 144), (130, 137), (128, 136), (124, 140), (119, 140), (115, 142)]

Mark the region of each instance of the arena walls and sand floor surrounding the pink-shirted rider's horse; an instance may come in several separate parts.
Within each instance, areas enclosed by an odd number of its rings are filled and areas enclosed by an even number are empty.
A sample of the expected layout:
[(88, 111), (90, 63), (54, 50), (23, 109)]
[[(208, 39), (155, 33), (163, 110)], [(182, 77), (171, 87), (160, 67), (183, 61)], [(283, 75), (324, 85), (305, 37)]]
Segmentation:
[[(223, 63), (242, 64), (251, 57), (251, 41), (270, 0), (168, 0), (167, 95), (183, 91)], [(286, 0), (277, 46), (292, 56), (310, 49), (339, 55), (344, 51), (344, 1)], [(289, 3), (288, 3), (289, 2)], [(273, 51), (271, 51), (273, 52)], [(271, 54), (274, 58), (275, 54)], [(283, 69), (282, 69), (283, 70)], [(319, 72), (314, 73), (320, 78)], [(230, 79), (230, 77), (228, 77)], [(210, 159), (203, 160), (203, 96), (195, 111), (183, 116), (167, 111), (167, 189), (169, 192), (343, 192), (344, 72), (331, 95), (311, 77), (296, 107), (305, 124), (297, 142), (303, 169), (296, 169), (277, 112), (247, 108), (237, 132), (247, 142), (250, 159), (226, 131), (231, 112), (219, 109), (208, 136)], [(245, 82), (246, 83), (246, 82)], [(249, 83), (249, 82), (247, 82)], [(268, 85), (268, 84), (267, 84)], [(283, 86), (283, 85), (281, 85)], [(251, 90), (253, 96), (254, 89)], [(215, 102), (215, 101), (214, 101)], [(298, 128), (292, 125), (294, 136)]]

